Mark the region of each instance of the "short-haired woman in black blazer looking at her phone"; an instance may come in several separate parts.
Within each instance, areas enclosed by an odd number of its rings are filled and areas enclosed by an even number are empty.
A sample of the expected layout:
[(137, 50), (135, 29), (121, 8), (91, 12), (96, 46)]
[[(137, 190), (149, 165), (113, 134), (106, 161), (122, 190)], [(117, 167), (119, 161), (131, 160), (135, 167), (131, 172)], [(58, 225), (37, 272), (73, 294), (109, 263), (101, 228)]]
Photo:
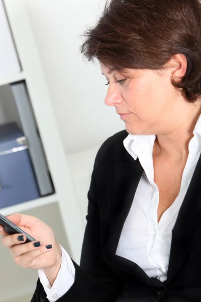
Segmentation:
[(96, 155), (80, 266), (32, 216), (8, 218), (35, 246), (1, 228), (2, 243), (39, 269), (32, 302), (198, 302), (201, 4), (112, 0), (85, 36), (126, 130)]

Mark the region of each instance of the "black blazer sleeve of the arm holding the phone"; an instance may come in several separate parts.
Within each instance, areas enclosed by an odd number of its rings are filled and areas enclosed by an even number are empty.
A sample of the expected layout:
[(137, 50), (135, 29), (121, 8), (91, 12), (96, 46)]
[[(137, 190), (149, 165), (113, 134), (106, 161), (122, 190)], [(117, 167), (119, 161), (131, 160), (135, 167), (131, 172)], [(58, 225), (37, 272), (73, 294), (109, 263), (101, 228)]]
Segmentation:
[[(59, 302), (115, 302), (120, 294), (121, 281), (106, 264), (100, 253), (100, 220), (96, 198), (96, 175), (99, 157), (110, 142), (109, 137), (99, 148), (93, 165), (86, 215), (86, 228), (81, 251), (80, 266), (72, 260), (75, 267), (75, 280), (70, 289), (61, 296)], [(40, 282), (31, 302), (49, 302)]]

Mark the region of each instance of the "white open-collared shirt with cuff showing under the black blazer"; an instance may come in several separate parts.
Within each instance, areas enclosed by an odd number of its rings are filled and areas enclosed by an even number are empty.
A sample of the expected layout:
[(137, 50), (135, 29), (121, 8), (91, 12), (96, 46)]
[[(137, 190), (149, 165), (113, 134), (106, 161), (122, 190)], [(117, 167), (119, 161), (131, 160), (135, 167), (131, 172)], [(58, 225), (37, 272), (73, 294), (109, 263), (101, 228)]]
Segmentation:
[[(167, 279), (172, 229), (201, 151), (201, 115), (193, 134), (188, 145), (189, 155), (182, 175), (180, 192), (173, 204), (163, 213), (159, 223), (159, 191), (154, 183), (152, 157), (156, 135), (129, 134), (123, 141), (134, 160), (139, 158), (144, 171), (125, 220), (116, 255), (137, 263), (149, 277), (155, 277), (162, 282)], [(74, 275), (74, 265), (62, 248), (61, 269), (52, 287), (45, 273), (39, 270), (40, 281), (50, 302), (56, 301), (71, 287)]]

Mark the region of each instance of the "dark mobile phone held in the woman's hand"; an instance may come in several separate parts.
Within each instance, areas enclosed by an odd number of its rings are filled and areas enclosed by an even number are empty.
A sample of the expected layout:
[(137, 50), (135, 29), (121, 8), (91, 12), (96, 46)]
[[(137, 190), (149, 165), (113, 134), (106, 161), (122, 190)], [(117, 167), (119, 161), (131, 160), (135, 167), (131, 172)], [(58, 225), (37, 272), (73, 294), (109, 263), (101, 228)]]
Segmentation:
[(26, 232), (24, 232), (16, 224), (14, 224), (13, 222), (11, 222), (9, 219), (7, 219), (2, 214), (0, 214), (0, 225), (3, 226), (4, 231), (7, 232), (9, 235), (19, 234), (19, 233), (26, 235), (27, 240), (26, 240), (26, 242), (23, 242), (23, 243), (27, 243), (27, 242), (31, 242), (31, 241), (36, 241), (36, 239), (34, 239), (29, 234), (27, 234)]

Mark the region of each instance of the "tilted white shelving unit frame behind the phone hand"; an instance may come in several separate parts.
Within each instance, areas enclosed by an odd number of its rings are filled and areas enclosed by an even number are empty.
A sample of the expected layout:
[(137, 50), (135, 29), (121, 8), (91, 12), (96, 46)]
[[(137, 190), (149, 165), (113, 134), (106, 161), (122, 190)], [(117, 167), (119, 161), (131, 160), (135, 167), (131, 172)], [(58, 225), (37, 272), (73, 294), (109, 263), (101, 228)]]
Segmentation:
[[(4, 0), (4, 5), (22, 72), (0, 78), (0, 89), (3, 85), (26, 81), (55, 193), (2, 208), (0, 212), (3, 215), (20, 212), (39, 217), (53, 228), (57, 241), (79, 263), (84, 225), (28, 15), (23, 0)], [(38, 271), (18, 267), (9, 250), (2, 246), (0, 254), (0, 301), (23, 300), (25, 295), (32, 296)]]

